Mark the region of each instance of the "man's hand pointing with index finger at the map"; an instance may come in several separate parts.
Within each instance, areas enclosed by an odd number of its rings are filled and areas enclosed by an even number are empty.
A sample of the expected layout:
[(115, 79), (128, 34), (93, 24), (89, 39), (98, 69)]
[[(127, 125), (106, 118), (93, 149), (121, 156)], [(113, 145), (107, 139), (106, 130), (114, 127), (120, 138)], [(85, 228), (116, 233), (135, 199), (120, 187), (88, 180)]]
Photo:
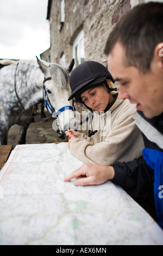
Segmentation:
[(114, 168), (111, 166), (103, 166), (96, 163), (83, 163), (79, 169), (74, 170), (74, 172), (67, 176), (65, 181), (76, 178), (77, 180), (74, 181), (75, 186), (99, 185), (107, 180), (112, 180), (114, 175)]

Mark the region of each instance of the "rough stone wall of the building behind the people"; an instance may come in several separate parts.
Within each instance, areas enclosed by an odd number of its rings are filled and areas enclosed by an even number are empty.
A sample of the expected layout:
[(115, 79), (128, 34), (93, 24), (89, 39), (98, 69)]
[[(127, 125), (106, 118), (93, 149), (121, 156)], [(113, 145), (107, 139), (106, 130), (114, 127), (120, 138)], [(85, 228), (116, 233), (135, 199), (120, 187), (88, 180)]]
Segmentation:
[(51, 62), (66, 64), (72, 60), (72, 44), (84, 30), (85, 60), (96, 60), (106, 66), (103, 53), (106, 39), (120, 17), (143, 0), (65, 0), (65, 22), (61, 23), (60, 1), (52, 0), (49, 14)]

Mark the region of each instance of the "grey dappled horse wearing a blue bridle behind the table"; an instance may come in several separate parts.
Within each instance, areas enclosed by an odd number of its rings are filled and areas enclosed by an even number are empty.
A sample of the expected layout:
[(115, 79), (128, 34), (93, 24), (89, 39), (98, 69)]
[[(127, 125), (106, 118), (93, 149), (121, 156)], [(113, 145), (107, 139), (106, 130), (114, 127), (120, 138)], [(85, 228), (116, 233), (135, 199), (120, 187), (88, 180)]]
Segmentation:
[(8, 131), (15, 124), (21, 126), (18, 144), (26, 143), (26, 133), (33, 118), (34, 107), (43, 100), (43, 94), (51, 113), (55, 111), (53, 117), (57, 121), (53, 129), (58, 132), (59, 138), (65, 138), (65, 130), (75, 120), (72, 101), (67, 101), (71, 94), (69, 74), (73, 65), (74, 59), (67, 68), (38, 58), (11, 64), (3, 61), (0, 70), (1, 145), (7, 144)]

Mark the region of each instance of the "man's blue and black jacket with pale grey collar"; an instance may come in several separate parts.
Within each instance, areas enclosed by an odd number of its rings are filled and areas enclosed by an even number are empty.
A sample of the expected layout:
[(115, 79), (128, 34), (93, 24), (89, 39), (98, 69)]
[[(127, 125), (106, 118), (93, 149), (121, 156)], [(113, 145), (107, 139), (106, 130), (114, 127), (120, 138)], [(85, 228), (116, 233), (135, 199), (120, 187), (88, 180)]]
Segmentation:
[(112, 164), (115, 169), (112, 181), (130, 194), (143, 194), (153, 188), (156, 218), (163, 229), (163, 113), (147, 119), (142, 112), (137, 112), (134, 118), (145, 143), (143, 156)]

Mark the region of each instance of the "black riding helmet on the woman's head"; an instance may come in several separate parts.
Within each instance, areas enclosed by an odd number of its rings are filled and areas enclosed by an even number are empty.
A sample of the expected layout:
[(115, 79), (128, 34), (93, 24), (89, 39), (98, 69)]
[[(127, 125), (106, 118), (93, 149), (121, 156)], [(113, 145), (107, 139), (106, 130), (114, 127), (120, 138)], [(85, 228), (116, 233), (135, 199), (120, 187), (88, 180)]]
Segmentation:
[(88, 61), (79, 64), (73, 69), (70, 76), (72, 94), (68, 100), (75, 97), (77, 101), (82, 101), (80, 95), (85, 92), (85, 90), (102, 83), (105, 83), (106, 88), (109, 89), (109, 93), (112, 90), (117, 90), (117, 88), (109, 88), (106, 79), (110, 79), (113, 83), (115, 82), (108, 69), (101, 63)]

